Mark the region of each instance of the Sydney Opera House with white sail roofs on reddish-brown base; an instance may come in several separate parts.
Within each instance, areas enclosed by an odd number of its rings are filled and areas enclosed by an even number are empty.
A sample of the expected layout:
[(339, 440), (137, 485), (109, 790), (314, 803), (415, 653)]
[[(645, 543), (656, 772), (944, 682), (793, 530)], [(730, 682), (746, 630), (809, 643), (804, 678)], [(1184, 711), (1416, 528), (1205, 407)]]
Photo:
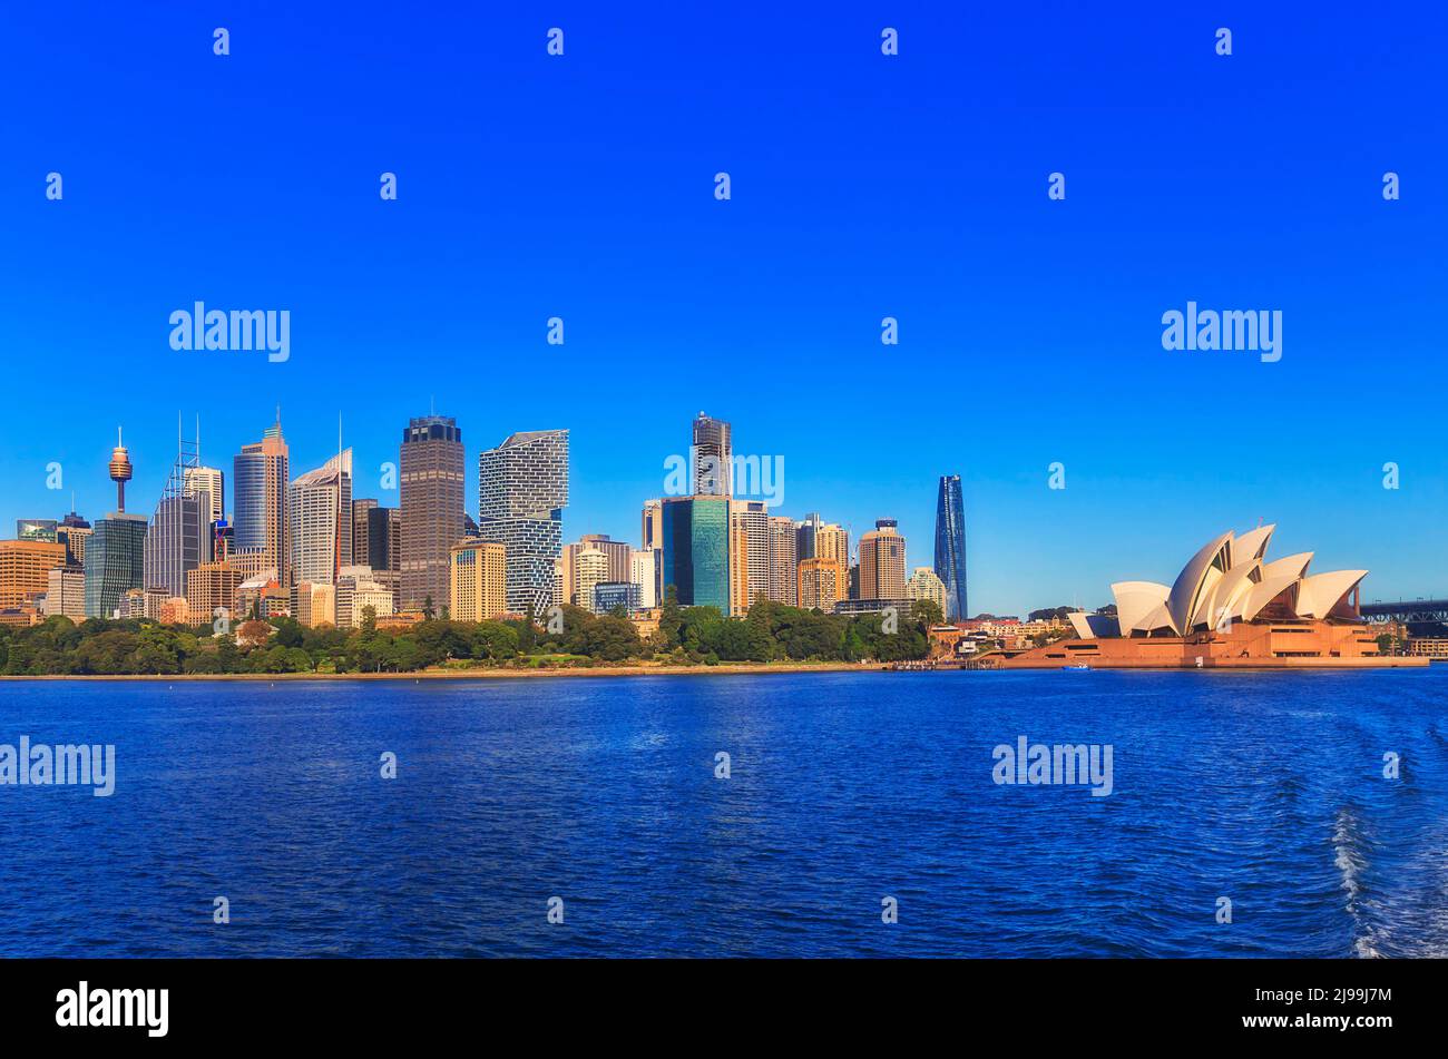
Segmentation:
[(1309, 574), (1312, 553), (1267, 561), (1276, 525), (1206, 543), (1169, 587), (1111, 586), (1116, 613), (1072, 613), (1076, 637), (1024, 651), (1006, 668), (1297, 668), (1425, 665), (1380, 655), (1358, 612), (1367, 570)]

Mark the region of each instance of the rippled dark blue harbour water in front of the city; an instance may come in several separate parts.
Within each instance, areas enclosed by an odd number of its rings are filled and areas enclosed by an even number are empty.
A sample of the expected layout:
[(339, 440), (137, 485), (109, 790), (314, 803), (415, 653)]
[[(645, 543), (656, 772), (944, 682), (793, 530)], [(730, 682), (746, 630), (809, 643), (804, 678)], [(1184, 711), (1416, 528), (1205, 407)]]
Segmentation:
[[(1442, 956), (1445, 692), (1444, 667), (0, 683), (0, 742), (117, 755), (109, 799), (0, 787), (0, 955)], [(995, 784), (1021, 735), (1111, 744), (1114, 793)]]

